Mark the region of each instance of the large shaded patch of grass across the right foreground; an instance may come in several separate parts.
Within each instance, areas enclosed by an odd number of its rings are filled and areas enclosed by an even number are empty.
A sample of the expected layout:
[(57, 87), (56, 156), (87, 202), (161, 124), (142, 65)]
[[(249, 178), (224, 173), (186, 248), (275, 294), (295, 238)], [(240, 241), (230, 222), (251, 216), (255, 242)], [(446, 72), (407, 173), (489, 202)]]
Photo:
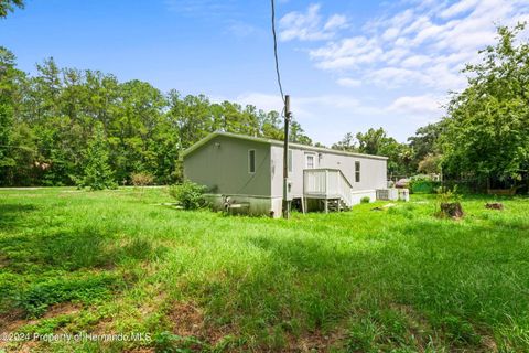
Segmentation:
[[(248, 237), (266, 260), (235, 263), (231, 278), (203, 284), (208, 309), (220, 322), (235, 320), (251, 334), (277, 329), (298, 335), (335, 330), (358, 314), (376, 317), (399, 306), (431, 328), (424, 340), (440, 334), (441, 345), (476, 349), (483, 349), (482, 334), (493, 336), (509, 318), (523, 322), (529, 313), (528, 302), (520, 300), (520, 292), (529, 292), (522, 232), (436, 220), (398, 223), (386, 232), (392, 236), (380, 247), (319, 237)], [(509, 340), (516, 349), (529, 349), (522, 335)]]

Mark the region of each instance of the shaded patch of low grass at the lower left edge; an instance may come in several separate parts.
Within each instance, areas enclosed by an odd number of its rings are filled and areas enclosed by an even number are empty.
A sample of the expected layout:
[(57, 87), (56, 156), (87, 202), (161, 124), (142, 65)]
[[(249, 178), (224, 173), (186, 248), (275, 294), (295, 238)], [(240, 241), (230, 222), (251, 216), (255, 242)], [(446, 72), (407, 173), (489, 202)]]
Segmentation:
[(97, 228), (1, 237), (0, 314), (22, 310), (33, 318), (56, 303), (111, 298), (137, 280), (128, 266), (159, 253), (150, 239), (121, 239)]

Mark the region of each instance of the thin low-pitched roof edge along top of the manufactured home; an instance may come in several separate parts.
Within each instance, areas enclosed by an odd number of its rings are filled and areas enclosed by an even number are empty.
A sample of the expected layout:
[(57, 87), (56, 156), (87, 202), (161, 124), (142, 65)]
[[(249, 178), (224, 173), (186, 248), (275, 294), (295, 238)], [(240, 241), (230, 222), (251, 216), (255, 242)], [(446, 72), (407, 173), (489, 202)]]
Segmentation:
[[(272, 140), (272, 139), (267, 139), (263, 137), (252, 137), (252, 136), (247, 136), (247, 135), (238, 135), (238, 133), (231, 133), (231, 132), (222, 132), (222, 131), (216, 131), (212, 132), (192, 147), (187, 148), (182, 156), (185, 157), (193, 151), (197, 150), (202, 146), (206, 145), (208, 141), (212, 139), (216, 138), (217, 136), (224, 136), (224, 137), (229, 137), (234, 139), (241, 139), (241, 140), (247, 140), (247, 141), (253, 141), (253, 142), (261, 142), (261, 143), (268, 143), (268, 145), (274, 145), (274, 146), (283, 146), (283, 141), (280, 140)], [(353, 157), (364, 157), (364, 158), (371, 158), (371, 159), (381, 159), (381, 160), (387, 160), (387, 157), (384, 156), (374, 156), (374, 154), (365, 154), (365, 153), (354, 153), (354, 152), (347, 152), (347, 151), (341, 151), (341, 150), (334, 150), (330, 148), (323, 148), (323, 147), (314, 147), (314, 146), (307, 146), (307, 145), (301, 145), (301, 143), (293, 143), (289, 142), (290, 148), (295, 148), (295, 149), (302, 149), (302, 150), (309, 150), (309, 151), (316, 151), (316, 152), (322, 152), (322, 153), (333, 153), (333, 154), (342, 154), (342, 156), (353, 156)]]

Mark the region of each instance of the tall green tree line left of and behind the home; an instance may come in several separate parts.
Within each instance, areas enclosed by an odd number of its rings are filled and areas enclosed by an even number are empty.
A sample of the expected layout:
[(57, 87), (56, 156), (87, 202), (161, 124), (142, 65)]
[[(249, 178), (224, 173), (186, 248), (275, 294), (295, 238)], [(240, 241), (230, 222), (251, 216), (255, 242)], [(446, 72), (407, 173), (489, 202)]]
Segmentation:
[[(149, 83), (120, 83), (98, 71), (60, 68), (53, 58), (28, 75), (0, 49), (0, 184), (73, 185), (86, 174), (89, 147), (108, 154), (112, 178), (148, 173), (156, 183), (182, 178), (179, 156), (213, 131), (283, 138), (277, 111), (212, 103), (204, 95), (163, 94)], [(100, 131), (99, 131), (100, 130)], [(296, 121), (294, 142), (312, 143)]]

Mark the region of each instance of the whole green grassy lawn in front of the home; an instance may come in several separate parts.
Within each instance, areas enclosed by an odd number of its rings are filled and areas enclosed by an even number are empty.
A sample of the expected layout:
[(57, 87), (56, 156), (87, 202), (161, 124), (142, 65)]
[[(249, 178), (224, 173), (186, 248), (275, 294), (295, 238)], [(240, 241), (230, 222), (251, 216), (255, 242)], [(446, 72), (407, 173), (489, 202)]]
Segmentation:
[[(3, 190), (0, 334), (21, 342), (0, 351), (527, 352), (529, 199), (489, 200), (283, 221), (156, 205), (165, 189)], [(150, 340), (24, 335), (78, 332)]]

